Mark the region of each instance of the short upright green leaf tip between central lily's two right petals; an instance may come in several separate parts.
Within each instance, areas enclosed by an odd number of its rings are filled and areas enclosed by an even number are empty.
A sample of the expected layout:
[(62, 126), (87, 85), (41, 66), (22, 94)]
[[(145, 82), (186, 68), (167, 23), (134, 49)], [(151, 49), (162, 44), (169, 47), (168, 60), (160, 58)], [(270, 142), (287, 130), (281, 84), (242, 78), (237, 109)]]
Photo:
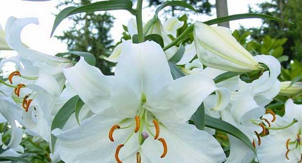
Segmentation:
[(191, 120), (194, 122), (194, 125), (200, 129), (204, 130), (205, 126), (205, 113), (204, 113), (204, 105), (201, 103), (201, 105), (198, 107), (196, 112), (192, 115)]

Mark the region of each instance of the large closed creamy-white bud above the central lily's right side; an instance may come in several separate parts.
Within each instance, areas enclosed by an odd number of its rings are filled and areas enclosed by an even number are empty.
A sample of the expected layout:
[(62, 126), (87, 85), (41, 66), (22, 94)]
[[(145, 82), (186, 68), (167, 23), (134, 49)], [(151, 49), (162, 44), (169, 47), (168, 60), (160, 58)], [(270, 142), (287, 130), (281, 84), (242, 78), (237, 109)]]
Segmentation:
[(251, 72), (262, 68), (228, 28), (196, 22), (194, 42), (198, 58), (208, 67), (233, 72)]

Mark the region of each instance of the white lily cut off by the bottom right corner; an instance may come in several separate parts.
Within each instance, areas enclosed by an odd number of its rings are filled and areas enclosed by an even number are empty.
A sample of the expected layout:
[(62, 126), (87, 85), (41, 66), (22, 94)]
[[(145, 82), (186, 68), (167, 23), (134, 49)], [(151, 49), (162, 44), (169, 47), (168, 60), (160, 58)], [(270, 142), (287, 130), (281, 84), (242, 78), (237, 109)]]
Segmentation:
[(302, 104), (292, 99), (285, 103), (285, 114), (277, 116), (272, 127), (282, 127), (293, 121), (298, 123), (281, 130), (270, 130), (270, 134), (262, 138), (257, 155), (261, 163), (300, 163), (302, 161)]

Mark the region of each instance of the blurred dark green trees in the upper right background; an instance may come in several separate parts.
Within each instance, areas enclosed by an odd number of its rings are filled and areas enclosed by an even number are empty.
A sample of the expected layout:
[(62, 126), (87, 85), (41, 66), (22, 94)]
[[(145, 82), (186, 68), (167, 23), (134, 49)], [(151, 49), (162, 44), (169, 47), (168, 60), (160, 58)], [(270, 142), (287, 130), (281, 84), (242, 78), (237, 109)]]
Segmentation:
[(265, 35), (277, 39), (287, 38), (284, 43), (284, 55), (289, 56), (287, 64), (291, 60), (302, 61), (302, 0), (271, 0), (258, 4), (259, 9), (250, 8), (251, 13), (262, 13), (277, 18), (289, 20), (294, 24), (283, 23), (272, 20), (262, 20), (260, 28), (249, 29), (251, 38), (261, 41)]

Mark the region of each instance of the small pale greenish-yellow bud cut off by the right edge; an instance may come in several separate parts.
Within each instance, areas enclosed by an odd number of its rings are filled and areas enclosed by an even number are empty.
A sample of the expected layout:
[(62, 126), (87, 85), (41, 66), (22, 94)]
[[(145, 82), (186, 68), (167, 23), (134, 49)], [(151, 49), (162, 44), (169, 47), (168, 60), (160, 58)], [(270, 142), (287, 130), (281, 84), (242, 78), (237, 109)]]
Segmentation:
[(302, 92), (302, 82), (296, 82), (289, 86), (291, 81), (281, 82), (279, 95), (291, 96)]

